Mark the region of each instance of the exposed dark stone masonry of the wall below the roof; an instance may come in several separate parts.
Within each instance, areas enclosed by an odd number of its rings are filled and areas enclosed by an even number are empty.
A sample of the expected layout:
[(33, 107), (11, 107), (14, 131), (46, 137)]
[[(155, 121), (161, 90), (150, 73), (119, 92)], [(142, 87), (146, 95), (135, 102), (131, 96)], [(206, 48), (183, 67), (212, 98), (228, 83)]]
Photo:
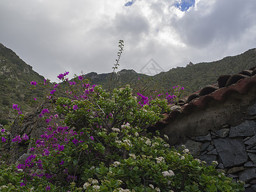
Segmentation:
[(256, 191), (256, 104), (246, 108), (244, 121), (236, 126), (223, 125), (205, 136), (189, 138), (183, 143), (191, 154), (217, 168), (228, 177), (246, 182), (246, 191)]

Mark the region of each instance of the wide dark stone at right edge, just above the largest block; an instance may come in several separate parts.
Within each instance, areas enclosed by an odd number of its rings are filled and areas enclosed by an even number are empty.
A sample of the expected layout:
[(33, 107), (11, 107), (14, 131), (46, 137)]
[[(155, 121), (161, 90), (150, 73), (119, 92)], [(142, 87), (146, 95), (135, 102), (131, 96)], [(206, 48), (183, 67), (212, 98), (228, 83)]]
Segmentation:
[(256, 134), (256, 122), (253, 120), (245, 120), (240, 125), (236, 127), (230, 127), (229, 136), (232, 137), (243, 137), (243, 136), (253, 136)]

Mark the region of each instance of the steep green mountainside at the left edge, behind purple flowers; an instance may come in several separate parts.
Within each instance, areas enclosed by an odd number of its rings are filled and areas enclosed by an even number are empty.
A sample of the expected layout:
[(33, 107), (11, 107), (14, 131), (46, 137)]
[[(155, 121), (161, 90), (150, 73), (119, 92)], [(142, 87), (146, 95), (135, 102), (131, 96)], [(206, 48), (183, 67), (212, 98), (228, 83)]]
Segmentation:
[(23, 113), (31, 110), (28, 105), (34, 97), (40, 99), (42, 92), (30, 90), (31, 81), (44, 82), (44, 77), (22, 61), (15, 52), (0, 44), (0, 124), (7, 124), (13, 116), (12, 104), (19, 104)]

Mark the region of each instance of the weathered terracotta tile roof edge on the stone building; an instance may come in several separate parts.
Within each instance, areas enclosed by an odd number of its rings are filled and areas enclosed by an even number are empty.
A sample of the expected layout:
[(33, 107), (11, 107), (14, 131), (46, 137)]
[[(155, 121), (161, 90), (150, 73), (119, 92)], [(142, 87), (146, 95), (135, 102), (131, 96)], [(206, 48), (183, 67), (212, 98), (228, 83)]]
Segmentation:
[(232, 93), (246, 94), (248, 90), (256, 85), (256, 67), (244, 70), (239, 74), (223, 75), (218, 78), (218, 86), (206, 86), (202, 90), (189, 95), (186, 99), (180, 100), (183, 104), (180, 109), (174, 109), (166, 118), (156, 124), (156, 127), (170, 124), (179, 114), (188, 115), (196, 108), (207, 108), (211, 100), (225, 101)]

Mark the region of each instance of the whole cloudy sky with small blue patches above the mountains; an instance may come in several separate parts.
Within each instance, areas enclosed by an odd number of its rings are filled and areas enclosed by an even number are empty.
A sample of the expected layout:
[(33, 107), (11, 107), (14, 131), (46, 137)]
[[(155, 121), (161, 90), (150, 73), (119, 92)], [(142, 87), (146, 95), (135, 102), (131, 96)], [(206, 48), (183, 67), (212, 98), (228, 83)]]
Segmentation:
[(255, 10), (255, 0), (1, 0), (0, 43), (57, 81), (111, 72), (122, 39), (118, 70), (148, 74), (255, 48)]

